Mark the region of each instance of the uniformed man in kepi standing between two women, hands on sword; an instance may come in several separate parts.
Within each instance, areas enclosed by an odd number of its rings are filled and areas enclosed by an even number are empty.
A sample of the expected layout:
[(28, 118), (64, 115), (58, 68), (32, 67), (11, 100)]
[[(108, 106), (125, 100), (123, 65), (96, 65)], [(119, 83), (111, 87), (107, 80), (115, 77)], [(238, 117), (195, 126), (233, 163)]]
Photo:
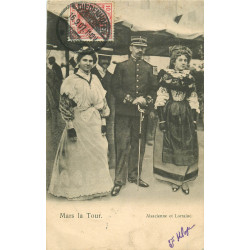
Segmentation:
[[(137, 183), (141, 175), (142, 161), (145, 152), (147, 119), (150, 106), (156, 94), (156, 77), (153, 67), (143, 60), (147, 47), (147, 39), (141, 36), (132, 36), (130, 44), (130, 58), (117, 64), (111, 89), (116, 98), (115, 102), (115, 146), (116, 168), (115, 182), (111, 195), (119, 194), (126, 180)], [(145, 110), (141, 129), (141, 150), (139, 157), (139, 128), (140, 109)], [(139, 186), (149, 185), (139, 178)]]

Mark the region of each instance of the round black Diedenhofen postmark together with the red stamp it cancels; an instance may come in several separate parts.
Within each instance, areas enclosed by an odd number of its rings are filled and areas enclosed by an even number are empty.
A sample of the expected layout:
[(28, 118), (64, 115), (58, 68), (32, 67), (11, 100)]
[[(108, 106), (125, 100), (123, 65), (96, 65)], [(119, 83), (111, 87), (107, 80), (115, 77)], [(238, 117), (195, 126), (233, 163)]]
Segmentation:
[(58, 16), (57, 37), (71, 51), (91, 46), (97, 52), (113, 41), (112, 15), (112, 3), (71, 3)]

